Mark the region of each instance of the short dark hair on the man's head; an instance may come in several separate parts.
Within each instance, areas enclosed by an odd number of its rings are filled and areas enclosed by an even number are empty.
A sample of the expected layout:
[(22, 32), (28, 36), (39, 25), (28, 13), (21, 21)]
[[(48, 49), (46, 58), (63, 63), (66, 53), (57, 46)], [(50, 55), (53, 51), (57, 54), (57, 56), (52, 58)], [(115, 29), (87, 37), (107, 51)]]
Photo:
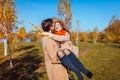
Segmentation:
[(45, 32), (48, 32), (50, 30), (50, 27), (52, 27), (52, 24), (53, 24), (53, 20), (48, 18), (42, 21), (41, 26)]

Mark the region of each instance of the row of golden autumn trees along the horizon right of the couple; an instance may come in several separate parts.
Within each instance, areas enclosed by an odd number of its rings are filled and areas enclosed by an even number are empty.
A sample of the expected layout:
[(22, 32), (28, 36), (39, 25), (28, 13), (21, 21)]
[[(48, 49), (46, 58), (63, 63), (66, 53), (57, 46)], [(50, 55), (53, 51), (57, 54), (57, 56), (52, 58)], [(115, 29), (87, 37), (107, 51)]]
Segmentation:
[[(72, 40), (76, 40), (76, 32), (72, 32)], [(120, 43), (120, 20), (114, 19), (106, 29), (99, 32), (97, 27), (91, 32), (78, 32), (79, 41), (92, 41), (96, 44), (97, 41), (103, 41), (106, 43), (117, 42)]]

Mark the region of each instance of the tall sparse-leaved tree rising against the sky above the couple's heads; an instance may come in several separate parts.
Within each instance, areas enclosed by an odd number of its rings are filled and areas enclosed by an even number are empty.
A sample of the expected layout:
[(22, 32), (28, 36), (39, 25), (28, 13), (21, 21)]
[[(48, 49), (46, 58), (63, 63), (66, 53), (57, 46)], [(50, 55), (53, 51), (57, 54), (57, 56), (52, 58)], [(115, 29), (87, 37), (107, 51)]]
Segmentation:
[(72, 11), (71, 11), (71, 0), (59, 0), (58, 4), (58, 15), (63, 19), (67, 27), (72, 27)]

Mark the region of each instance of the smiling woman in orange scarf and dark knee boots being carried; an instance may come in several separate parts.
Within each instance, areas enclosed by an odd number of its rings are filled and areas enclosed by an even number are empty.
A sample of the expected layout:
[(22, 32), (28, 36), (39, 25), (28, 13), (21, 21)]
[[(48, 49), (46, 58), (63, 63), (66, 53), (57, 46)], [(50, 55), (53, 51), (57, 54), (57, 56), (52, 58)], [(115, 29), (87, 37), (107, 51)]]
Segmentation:
[(75, 56), (72, 42), (70, 41), (70, 32), (66, 29), (65, 23), (56, 19), (54, 21), (54, 34), (42, 33), (43, 35), (49, 35), (52, 39), (56, 40), (59, 45), (59, 51), (57, 52), (60, 61), (72, 71), (76, 73), (79, 80), (84, 80), (80, 71), (84, 73), (88, 78), (92, 78), (92, 73), (88, 71), (79, 59)]

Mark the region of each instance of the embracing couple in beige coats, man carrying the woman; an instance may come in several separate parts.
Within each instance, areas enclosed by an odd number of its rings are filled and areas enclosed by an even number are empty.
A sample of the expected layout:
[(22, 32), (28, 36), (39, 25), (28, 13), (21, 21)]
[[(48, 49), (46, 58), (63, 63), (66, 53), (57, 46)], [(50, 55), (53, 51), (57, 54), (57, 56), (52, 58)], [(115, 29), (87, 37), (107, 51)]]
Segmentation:
[(42, 47), (49, 80), (69, 80), (66, 67), (75, 72), (79, 80), (84, 80), (81, 72), (92, 78), (92, 73), (79, 61), (72, 48), (65, 22), (49, 18), (43, 20), (41, 26), (44, 30)]

